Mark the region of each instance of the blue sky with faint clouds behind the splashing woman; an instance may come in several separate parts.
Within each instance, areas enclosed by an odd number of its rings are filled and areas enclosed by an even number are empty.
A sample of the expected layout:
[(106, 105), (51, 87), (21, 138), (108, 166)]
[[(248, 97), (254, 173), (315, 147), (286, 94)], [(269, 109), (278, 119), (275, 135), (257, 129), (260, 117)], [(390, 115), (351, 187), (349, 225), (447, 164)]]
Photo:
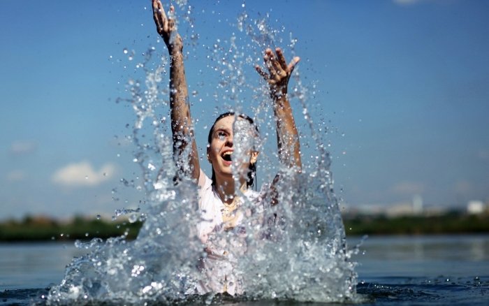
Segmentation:
[[(317, 88), (308, 109), (328, 126), (345, 203), (395, 205), (416, 194), (426, 205), (489, 200), (487, 1), (242, 3), (189, 1), (199, 34), (198, 46), (187, 39), (185, 48), (191, 90), (213, 86), (202, 73), (204, 46), (225, 45), (243, 10), (268, 13), (284, 41), (289, 32), (298, 39), (301, 80)], [(124, 141), (135, 117), (115, 100), (127, 97), (142, 52), (166, 54), (150, 1), (2, 1), (0, 23), (0, 219), (137, 205), (144, 195), (119, 182), (140, 175)], [(251, 64), (244, 70), (254, 82)], [(201, 97), (192, 113), (205, 126), (217, 101)], [(205, 132), (197, 140), (205, 147)]]

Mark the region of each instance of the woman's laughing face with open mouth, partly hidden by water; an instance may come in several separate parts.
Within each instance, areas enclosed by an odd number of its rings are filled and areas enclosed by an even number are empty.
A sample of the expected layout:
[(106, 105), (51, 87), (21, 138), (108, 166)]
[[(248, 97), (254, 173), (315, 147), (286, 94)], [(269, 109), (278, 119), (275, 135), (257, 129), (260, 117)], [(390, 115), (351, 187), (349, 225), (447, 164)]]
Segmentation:
[[(214, 124), (214, 129), (211, 134), (210, 146), (207, 148), (208, 159), (210, 163), (212, 163), (214, 173), (216, 174), (216, 177), (221, 178), (221, 180), (233, 180), (232, 165), (233, 152), (235, 150), (233, 143), (234, 120), (235, 116), (229, 115), (227, 117), (219, 119)], [(252, 155), (254, 155), (254, 159), (256, 159), (256, 156), (258, 156), (258, 152), (250, 152), (250, 158), (247, 159), (245, 163), (242, 163), (240, 167), (240, 173), (244, 173), (244, 175), (242, 175), (242, 179), (245, 181), (247, 169), (249, 168), (249, 163)]]

